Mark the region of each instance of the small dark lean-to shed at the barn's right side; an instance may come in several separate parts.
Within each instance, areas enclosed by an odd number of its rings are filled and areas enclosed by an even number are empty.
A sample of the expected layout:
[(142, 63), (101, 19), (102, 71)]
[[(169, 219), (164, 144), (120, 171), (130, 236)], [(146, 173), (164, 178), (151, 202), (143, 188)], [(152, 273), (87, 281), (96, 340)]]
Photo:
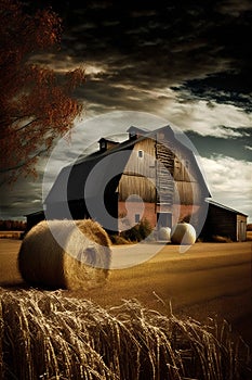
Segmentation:
[(221, 236), (233, 241), (247, 240), (248, 215), (213, 200), (208, 200), (208, 216), (201, 232), (204, 239), (212, 240), (214, 236)]

